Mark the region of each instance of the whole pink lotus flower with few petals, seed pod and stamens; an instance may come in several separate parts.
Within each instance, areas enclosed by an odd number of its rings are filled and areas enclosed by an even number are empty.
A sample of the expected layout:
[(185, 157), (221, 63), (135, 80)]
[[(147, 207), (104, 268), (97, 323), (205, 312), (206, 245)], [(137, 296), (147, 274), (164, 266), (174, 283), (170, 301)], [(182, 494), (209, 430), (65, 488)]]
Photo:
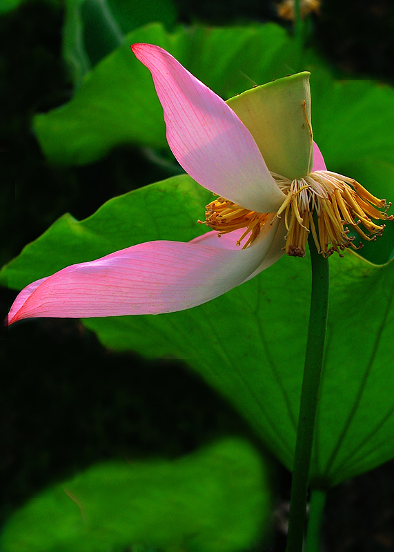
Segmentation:
[(347, 226), (364, 239), (382, 233), (371, 218), (387, 218), (386, 202), (326, 171), (313, 147), (309, 73), (226, 103), (158, 46), (132, 51), (152, 73), (179, 164), (217, 195), (206, 206), (213, 230), (188, 243), (138, 244), (39, 279), (19, 293), (8, 324), (181, 311), (242, 284), (284, 251), (304, 256), (310, 232), (325, 256), (355, 247)]

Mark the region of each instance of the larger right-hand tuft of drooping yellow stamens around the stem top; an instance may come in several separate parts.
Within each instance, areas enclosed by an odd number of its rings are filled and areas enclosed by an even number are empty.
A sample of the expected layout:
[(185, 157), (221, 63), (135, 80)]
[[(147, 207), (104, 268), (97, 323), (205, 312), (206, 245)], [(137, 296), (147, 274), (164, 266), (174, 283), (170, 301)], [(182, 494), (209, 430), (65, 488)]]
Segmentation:
[[(273, 174), (286, 199), (277, 212), (284, 215), (287, 255), (304, 257), (308, 233), (312, 232), (317, 250), (324, 257), (346, 248), (359, 249), (350, 228), (366, 241), (382, 235), (384, 224), (377, 221), (388, 217), (385, 199), (377, 199), (352, 178), (328, 170), (316, 170), (302, 179), (289, 181)], [(382, 209), (382, 210), (380, 210)], [(317, 228), (313, 213), (316, 213)]]

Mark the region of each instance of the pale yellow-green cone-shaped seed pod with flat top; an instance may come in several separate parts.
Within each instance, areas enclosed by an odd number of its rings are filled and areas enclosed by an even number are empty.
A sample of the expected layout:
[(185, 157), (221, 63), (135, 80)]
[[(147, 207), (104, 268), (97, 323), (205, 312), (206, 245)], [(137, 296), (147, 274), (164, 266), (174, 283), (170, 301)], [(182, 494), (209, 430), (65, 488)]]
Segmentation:
[(277, 79), (227, 100), (269, 170), (290, 179), (306, 176), (313, 166), (309, 75)]

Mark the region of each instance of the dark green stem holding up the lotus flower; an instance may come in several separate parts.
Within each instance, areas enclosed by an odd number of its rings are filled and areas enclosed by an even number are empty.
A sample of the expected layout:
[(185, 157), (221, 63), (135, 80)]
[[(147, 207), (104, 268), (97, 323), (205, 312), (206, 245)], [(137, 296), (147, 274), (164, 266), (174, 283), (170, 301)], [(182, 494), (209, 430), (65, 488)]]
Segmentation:
[(317, 396), (322, 370), (324, 339), (328, 308), (328, 259), (317, 253), (312, 233), (308, 237), (312, 264), (311, 311), (302, 381), (297, 439), (293, 462), (290, 494), (290, 515), (286, 552), (302, 552), (308, 475), (311, 464), (313, 431), (315, 428)]

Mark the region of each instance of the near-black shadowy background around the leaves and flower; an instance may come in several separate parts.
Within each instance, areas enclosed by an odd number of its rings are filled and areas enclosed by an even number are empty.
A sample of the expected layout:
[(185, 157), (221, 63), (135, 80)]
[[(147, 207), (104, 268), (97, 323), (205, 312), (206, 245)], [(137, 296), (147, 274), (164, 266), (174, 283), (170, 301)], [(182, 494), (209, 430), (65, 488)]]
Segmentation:
[[(176, 3), (186, 24), (279, 22), (271, 1)], [(0, 17), (1, 264), (66, 211), (82, 219), (110, 197), (163, 177), (129, 148), (79, 168), (53, 167), (43, 158), (32, 116), (72, 95), (61, 61), (62, 24), (56, 3), (30, 1)], [(393, 37), (392, 0), (326, 0), (313, 16), (310, 41), (339, 76), (394, 84)], [(1, 290), (3, 316), (15, 295)], [(255, 441), (187, 366), (104, 351), (78, 321), (38, 319), (3, 329), (1, 360), (2, 519), (50, 482), (104, 458), (176, 457), (237, 433)], [(277, 473), (280, 509), (290, 475), (280, 466)], [(393, 528), (393, 462), (328, 493), (327, 550), (391, 551)], [(270, 549), (284, 549), (279, 529)]]

